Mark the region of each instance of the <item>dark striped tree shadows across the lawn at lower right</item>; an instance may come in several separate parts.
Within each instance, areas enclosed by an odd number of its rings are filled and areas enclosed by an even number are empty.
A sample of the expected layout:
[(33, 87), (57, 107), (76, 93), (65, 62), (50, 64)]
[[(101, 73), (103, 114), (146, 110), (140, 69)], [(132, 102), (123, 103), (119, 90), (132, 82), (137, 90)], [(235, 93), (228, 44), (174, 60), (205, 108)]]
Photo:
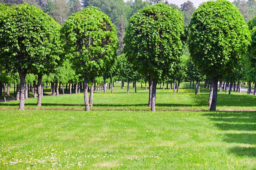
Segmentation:
[[(225, 132), (223, 141), (238, 146), (229, 148), (229, 152), (239, 155), (256, 157), (256, 112), (213, 112), (206, 113), (216, 127)], [(234, 130), (235, 132), (229, 132)]]

